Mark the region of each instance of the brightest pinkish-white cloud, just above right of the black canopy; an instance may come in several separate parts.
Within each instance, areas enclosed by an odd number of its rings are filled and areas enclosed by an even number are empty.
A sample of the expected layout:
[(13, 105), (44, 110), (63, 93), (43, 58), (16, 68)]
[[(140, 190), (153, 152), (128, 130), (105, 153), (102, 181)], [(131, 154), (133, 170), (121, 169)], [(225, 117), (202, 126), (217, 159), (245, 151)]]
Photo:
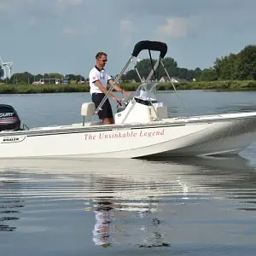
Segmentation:
[(166, 25), (158, 26), (156, 33), (161, 39), (184, 38), (188, 34), (188, 19), (167, 18)]

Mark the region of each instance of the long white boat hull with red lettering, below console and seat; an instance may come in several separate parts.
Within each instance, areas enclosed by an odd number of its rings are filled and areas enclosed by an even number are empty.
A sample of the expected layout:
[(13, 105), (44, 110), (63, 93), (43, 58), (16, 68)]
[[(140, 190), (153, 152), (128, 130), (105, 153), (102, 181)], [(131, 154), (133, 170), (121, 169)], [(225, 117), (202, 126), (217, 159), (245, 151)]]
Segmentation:
[(144, 125), (54, 127), (2, 133), (0, 158), (141, 158), (237, 154), (256, 138), (256, 113)]

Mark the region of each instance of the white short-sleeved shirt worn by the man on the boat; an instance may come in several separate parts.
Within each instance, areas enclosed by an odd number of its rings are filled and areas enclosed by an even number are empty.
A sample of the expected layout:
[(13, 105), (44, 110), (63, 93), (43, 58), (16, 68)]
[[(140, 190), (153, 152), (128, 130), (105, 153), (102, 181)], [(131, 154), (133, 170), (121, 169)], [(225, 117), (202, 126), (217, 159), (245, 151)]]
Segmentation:
[(94, 82), (99, 80), (102, 85), (107, 88), (110, 79), (112, 79), (112, 77), (104, 69), (99, 70), (97, 67), (91, 68), (89, 73), (90, 94), (95, 92), (102, 93), (102, 90), (100, 90)]

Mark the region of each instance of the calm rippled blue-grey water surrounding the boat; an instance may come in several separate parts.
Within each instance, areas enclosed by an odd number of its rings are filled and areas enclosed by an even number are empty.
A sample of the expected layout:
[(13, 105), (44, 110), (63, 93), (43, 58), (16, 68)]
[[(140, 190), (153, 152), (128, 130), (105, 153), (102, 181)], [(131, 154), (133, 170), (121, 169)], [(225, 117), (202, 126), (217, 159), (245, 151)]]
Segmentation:
[[(172, 115), (251, 111), (255, 92), (160, 93)], [(86, 93), (3, 96), (28, 126), (81, 122)], [(113, 103), (113, 109), (115, 104)], [(256, 146), (225, 158), (1, 160), (1, 255), (254, 255)]]

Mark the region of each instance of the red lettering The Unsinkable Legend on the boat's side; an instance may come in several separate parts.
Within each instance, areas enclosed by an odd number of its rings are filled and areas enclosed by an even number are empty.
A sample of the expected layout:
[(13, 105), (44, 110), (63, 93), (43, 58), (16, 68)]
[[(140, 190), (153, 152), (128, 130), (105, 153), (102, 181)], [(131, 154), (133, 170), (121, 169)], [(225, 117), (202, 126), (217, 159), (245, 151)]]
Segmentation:
[(84, 134), (85, 140), (96, 139), (129, 139), (134, 137), (160, 137), (165, 135), (165, 130), (157, 131), (112, 131), (112, 132), (99, 132), (99, 133), (86, 133)]

